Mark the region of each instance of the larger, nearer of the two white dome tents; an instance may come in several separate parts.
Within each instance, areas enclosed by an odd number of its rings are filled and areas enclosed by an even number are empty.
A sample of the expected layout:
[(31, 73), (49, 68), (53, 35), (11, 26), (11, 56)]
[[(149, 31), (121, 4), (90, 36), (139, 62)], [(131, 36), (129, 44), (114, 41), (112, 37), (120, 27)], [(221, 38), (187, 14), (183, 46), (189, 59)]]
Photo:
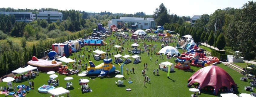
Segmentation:
[(166, 46), (166, 47), (162, 48), (161, 50), (159, 50), (158, 53), (164, 53), (164, 54), (170, 53), (172, 55), (174, 53), (179, 54), (180, 52), (175, 47)]

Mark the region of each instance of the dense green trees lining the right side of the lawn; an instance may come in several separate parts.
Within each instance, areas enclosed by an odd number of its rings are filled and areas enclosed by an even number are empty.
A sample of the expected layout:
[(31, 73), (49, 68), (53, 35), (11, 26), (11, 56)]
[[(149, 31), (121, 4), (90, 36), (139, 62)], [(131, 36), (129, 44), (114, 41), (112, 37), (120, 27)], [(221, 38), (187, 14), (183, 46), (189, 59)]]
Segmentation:
[(165, 23), (165, 29), (175, 31), (180, 37), (190, 34), (195, 43), (206, 43), (219, 50), (238, 50), (241, 53), (234, 53), (236, 57), (253, 60), (256, 57), (255, 8), (256, 2), (249, 1), (239, 9), (217, 9), (211, 15), (201, 15), (193, 27), (185, 22), (172, 22), (173, 19), (163, 4), (156, 9), (154, 17), (156, 24)]

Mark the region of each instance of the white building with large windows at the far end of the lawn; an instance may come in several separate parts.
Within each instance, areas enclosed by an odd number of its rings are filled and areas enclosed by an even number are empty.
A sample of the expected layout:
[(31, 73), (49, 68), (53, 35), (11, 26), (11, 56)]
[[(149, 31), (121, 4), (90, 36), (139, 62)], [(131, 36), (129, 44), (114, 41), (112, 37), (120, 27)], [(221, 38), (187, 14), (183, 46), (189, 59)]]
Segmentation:
[(112, 19), (108, 21), (108, 27), (116, 25), (118, 28), (127, 27), (131, 29), (135, 25), (137, 29), (150, 29), (155, 28), (154, 18), (134, 18), (134, 17), (120, 17), (120, 19)]

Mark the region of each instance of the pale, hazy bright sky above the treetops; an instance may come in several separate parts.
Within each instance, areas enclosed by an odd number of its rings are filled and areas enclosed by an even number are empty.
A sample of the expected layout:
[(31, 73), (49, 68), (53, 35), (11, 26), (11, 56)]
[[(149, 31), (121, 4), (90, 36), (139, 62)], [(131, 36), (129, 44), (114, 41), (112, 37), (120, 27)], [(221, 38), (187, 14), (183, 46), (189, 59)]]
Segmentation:
[(112, 13), (134, 14), (135, 12), (145, 12), (147, 15), (154, 14), (156, 8), (161, 3), (169, 10), (170, 13), (178, 16), (193, 15), (211, 15), (217, 9), (227, 7), (241, 8), (247, 0), (4, 0), (0, 3), (0, 8), (14, 9), (39, 9), (39, 8), (56, 8), (59, 10), (81, 10), (86, 12), (109, 11)]

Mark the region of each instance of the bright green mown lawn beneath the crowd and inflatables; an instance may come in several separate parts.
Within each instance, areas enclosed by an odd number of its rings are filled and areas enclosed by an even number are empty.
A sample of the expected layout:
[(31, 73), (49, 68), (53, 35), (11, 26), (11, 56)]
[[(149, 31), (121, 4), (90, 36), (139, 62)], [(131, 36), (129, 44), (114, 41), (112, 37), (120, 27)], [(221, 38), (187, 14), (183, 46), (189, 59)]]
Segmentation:
[[(107, 38), (107, 43), (109, 43), (108, 39), (111, 39), (114, 37), (108, 37)], [(118, 42), (115, 42), (118, 43)], [(126, 42), (127, 43), (127, 42)], [(129, 42), (128, 45), (120, 45), (124, 48), (130, 48), (131, 44), (133, 44), (133, 42)], [(142, 43), (140, 43), (141, 45)], [(147, 44), (157, 44), (157, 48), (159, 48), (159, 50), (161, 49), (161, 43), (159, 42), (147, 42)], [(114, 44), (115, 45), (115, 44)], [(119, 45), (119, 44), (118, 44)], [(172, 46), (173, 44), (170, 44), (170, 46)], [(140, 48), (142, 48), (141, 46), (139, 46)], [(82, 48), (82, 50), (80, 52), (83, 52), (84, 47)], [(159, 51), (158, 49), (155, 50), (156, 52)], [(111, 49), (111, 52), (113, 52), (114, 50)], [(179, 51), (181, 52), (181, 50), (179, 49)], [(78, 53), (80, 53), (78, 52)], [(128, 53), (127, 50), (125, 50), (125, 53), (128, 55), (132, 55), (131, 53)], [(91, 54), (88, 53), (86, 51), (85, 53), (86, 55)], [(122, 53), (121, 55), (124, 55), (124, 53)], [(170, 73), (170, 78), (167, 78), (167, 72), (159, 70), (159, 76), (153, 75), (153, 69), (157, 69), (158, 65), (155, 64), (155, 61), (158, 59), (158, 63), (161, 62), (165, 62), (165, 61), (169, 61), (171, 63), (174, 63), (174, 59), (166, 59), (166, 56), (164, 56), (163, 60), (159, 59), (159, 55), (152, 55), (152, 60), (150, 61), (150, 56), (148, 56), (146, 53), (141, 53), (139, 54), (139, 56), (141, 56), (141, 60), (142, 62), (139, 64), (133, 64), (133, 63), (129, 63), (127, 65), (124, 65), (123, 69), (125, 70), (125, 68), (129, 68), (131, 69), (132, 67), (135, 68), (135, 73), (128, 73), (126, 74), (124, 72), (124, 79), (123, 78), (115, 78), (116, 74), (111, 74), (108, 77), (95, 77), (95, 76), (86, 76), (86, 77), (80, 77), (80, 76), (76, 76), (76, 75), (72, 75), (71, 77), (73, 77), (73, 80), (70, 80), (70, 82), (73, 82), (73, 87), (72, 88), (68, 88), (68, 90), (70, 90), (69, 95), (71, 97), (82, 97), (82, 96), (88, 96), (88, 97), (190, 97), (191, 94), (193, 94), (193, 92), (188, 91), (188, 87), (187, 87), (187, 81), (188, 79), (199, 69), (201, 69), (201, 67), (194, 67), (191, 66), (191, 69), (193, 71), (186, 71), (186, 70), (178, 70), (175, 68), (175, 72), (171, 72)], [(73, 56), (70, 56), (70, 58), (73, 58)], [(114, 59), (114, 57), (111, 57), (112, 59)], [(133, 58), (130, 57), (130, 59), (134, 60)], [(90, 57), (90, 60), (93, 61), (95, 64), (100, 64), (103, 63), (102, 60), (100, 61), (96, 61), (93, 59), (93, 57)], [(84, 60), (83, 61), (88, 62), (88, 60)], [(118, 64), (114, 63), (114, 60), (112, 61), (112, 63), (116, 66), (117, 70), (121, 71), (121, 67)], [(146, 75), (149, 76), (149, 78), (151, 79), (151, 82), (146, 82), (146, 85), (143, 85), (143, 81), (144, 81), (144, 76), (141, 75), (141, 71), (143, 69), (143, 64), (144, 63), (148, 63), (148, 69), (146, 70)], [(250, 81), (248, 82), (243, 82), (240, 80), (240, 77), (242, 76), (240, 73), (232, 70), (231, 68), (229, 68), (228, 66), (224, 66), (222, 63), (218, 64), (217, 66), (220, 66), (221, 68), (223, 68), (225, 71), (227, 71), (231, 77), (234, 79), (234, 82), (238, 84), (238, 92), (236, 92), (236, 94), (239, 93), (250, 93), (249, 91), (245, 91), (244, 90), (244, 86), (249, 86), (250, 85)], [(69, 68), (72, 68), (71, 66)], [(85, 71), (85, 70), (82, 70)], [(57, 73), (56, 73), (57, 74)], [(57, 74), (58, 75), (58, 74)], [(65, 83), (68, 81), (65, 81), (64, 78), (68, 77), (65, 75), (58, 75), (58, 79), (59, 79), (59, 86), (57, 87), (64, 87), (65, 88)], [(131, 77), (131, 80), (133, 81), (133, 83), (128, 83), (128, 79), (129, 77)], [(90, 82), (88, 82), (88, 85), (90, 86), (90, 88), (92, 89), (93, 92), (88, 92), (88, 93), (81, 93), (81, 87), (78, 84), (78, 80), (80, 78), (86, 78), (89, 79)], [(38, 88), (44, 84), (47, 84), (47, 80), (49, 79), (49, 75), (46, 73), (39, 73), (39, 76), (36, 76), (34, 79), (30, 79), (30, 81), (34, 81), (35, 82), (35, 89), (30, 90), (30, 92), (26, 95), (26, 97), (49, 97), (51, 94), (43, 94), (43, 93), (39, 93), (38, 92)], [(118, 79), (124, 80), (124, 85), (116, 85), (115, 81), (117, 81)], [(24, 80), (22, 82), (13, 82), (13, 85), (21, 85), (21, 84), (28, 84), (28, 81)], [(6, 82), (1, 82), (0, 86), (4, 87), (6, 86)], [(193, 87), (193, 86), (192, 86)], [(131, 88), (131, 91), (126, 91), (127, 88)], [(193, 87), (194, 88), (194, 87)], [(12, 91), (12, 89), (10, 90)], [(256, 91), (256, 90), (255, 90)], [(224, 91), (225, 92), (225, 91)], [(218, 92), (217, 96), (220, 96), (220, 93), (223, 93), (222, 91)], [(212, 95), (213, 91), (211, 90), (202, 90), (200, 97), (216, 97), (215, 95)], [(0, 97), (4, 97), (4, 94), (0, 94)], [(65, 95), (61, 95), (61, 96), (67, 96)]]

